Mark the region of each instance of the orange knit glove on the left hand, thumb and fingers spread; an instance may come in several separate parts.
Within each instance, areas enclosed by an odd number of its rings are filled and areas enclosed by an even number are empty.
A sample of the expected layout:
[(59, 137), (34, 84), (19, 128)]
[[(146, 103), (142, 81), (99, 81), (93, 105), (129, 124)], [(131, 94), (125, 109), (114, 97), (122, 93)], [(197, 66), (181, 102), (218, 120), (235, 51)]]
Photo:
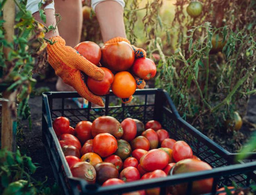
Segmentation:
[[(92, 94), (85, 85), (85, 74), (95, 80), (102, 80), (104, 72), (80, 55), (74, 48), (65, 46), (60, 36), (50, 38), (47, 45), (48, 62), (65, 83), (72, 86), (81, 97), (99, 106), (104, 106), (101, 97)], [(55, 43), (54, 43), (55, 42)]]

